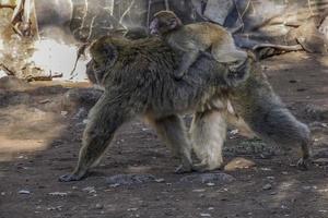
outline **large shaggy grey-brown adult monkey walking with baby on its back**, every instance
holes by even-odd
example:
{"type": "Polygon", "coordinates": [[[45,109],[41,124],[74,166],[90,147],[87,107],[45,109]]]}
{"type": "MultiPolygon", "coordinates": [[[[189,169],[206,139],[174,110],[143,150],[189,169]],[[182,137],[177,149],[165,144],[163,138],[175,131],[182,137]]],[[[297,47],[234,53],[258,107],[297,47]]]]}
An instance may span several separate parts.
{"type": "MultiPolygon", "coordinates": [[[[180,57],[156,37],[128,40],[105,36],[91,45],[90,52],[90,68],[97,71],[97,81],[105,92],[90,111],[78,165],[72,173],[60,177],[62,182],[84,178],[89,169],[98,164],[119,126],[134,118],[145,119],[152,124],[173,153],[177,154],[181,162],[177,172],[194,170],[191,143],[180,116],[200,111],[199,119],[192,123],[195,128],[191,134],[203,128],[198,124],[203,121],[208,121],[204,124],[208,126],[225,125],[224,119],[215,119],[218,122],[209,119],[208,114],[211,114],[212,109],[209,109],[209,113],[201,112],[204,111],[204,106],[218,99],[222,104],[222,110],[227,107],[227,100],[231,100],[236,113],[260,137],[263,135],[271,140],[273,135],[274,141],[289,142],[290,146],[300,145],[300,165],[304,165],[304,160],[308,158],[307,126],[281,104],[251,58],[247,58],[245,63],[249,78],[236,89],[229,86],[223,76],[229,69],[202,55],[183,80],[174,80],[172,73],[180,57]],[[274,118],[278,118],[278,123],[274,118]],[[277,130],[281,126],[284,126],[284,132],[277,130]]],[[[216,134],[224,137],[223,132],[211,130],[211,135],[208,136],[200,131],[200,136],[215,140],[213,136],[216,134]]],[[[208,147],[213,146],[216,146],[215,150],[221,150],[222,141],[219,145],[208,147]]],[[[211,155],[209,152],[207,154],[211,155]]],[[[220,154],[215,157],[219,156],[220,154]]],[[[220,161],[216,164],[222,165],[220,161]]]]}

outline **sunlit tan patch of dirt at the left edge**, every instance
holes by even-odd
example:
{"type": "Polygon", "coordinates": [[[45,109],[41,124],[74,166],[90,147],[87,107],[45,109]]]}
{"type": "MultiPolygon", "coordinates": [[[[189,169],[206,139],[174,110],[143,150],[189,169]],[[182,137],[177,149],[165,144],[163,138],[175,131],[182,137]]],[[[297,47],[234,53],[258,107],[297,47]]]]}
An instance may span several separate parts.
{"type": "Polygon", "coordinates": [[[46,149],[63,129],[55,112],[25,105],[2,108],[0,122],[0,161],[46,149]]]}

